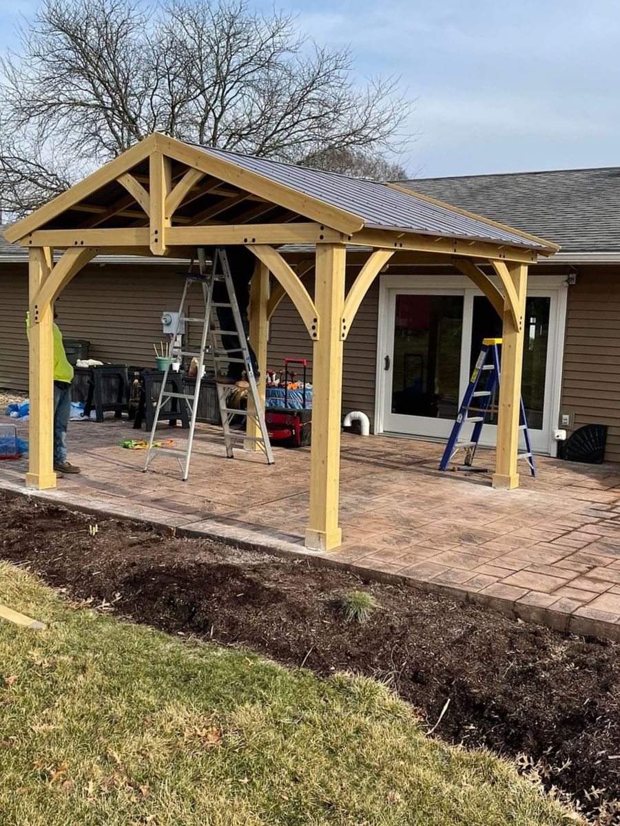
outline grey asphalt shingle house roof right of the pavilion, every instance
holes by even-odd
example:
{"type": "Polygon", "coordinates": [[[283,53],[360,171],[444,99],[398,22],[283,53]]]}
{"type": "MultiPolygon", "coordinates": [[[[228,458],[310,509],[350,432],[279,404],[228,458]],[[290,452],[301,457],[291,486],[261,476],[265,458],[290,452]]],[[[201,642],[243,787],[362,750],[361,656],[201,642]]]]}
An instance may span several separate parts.
{"type": "Polygon", "coordinates": [[[401,185],[561,244],[562,252],[620,250],[620,167],[417,178],[401,185]]]}

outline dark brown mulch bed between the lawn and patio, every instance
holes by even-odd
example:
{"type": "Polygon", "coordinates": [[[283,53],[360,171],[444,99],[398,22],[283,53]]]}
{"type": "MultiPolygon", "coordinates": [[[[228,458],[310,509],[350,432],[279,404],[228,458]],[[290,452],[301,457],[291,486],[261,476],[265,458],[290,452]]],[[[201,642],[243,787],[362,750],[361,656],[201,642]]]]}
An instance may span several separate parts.
{"type": "Polygon", "coordinates": [[[244,643],[318,675],[389,679],[436,734],[548,767],[576,795],[620,797],[620,646],[558,634],[407,587],[0,494],[0,556],[75,598],[173,633],[244,643]],[[91,537],[88,525],[98,522],[91,537]],[[349,623],[334,601],[363,588],[379,608],[349,623]],[[564,768],[561,768],[566,764],[564,768]]]}

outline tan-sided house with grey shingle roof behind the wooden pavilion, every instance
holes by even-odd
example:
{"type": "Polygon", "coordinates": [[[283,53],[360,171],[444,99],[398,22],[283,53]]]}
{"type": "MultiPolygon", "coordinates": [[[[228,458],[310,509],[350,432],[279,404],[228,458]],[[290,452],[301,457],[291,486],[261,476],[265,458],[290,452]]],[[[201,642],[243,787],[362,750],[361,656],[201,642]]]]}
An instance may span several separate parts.
{"type": "MultiPolygon", "coordinates": [[[[429,178],[401,186],[536,232],[562,245],[530,267],[523,396],[534,446],[556,453],[554,430],[609,425],[606,458],[620,461],[620,169],[429,178]]],[[[355,249],[348,256],[355,274],[355,249]]],[[[312,294],[313,251],[287,259],[312,294]]],[[[64,335],[88,339],[91,355],[153,365],[160,316],[179,302],[186,263],[99,256],[64,290],[64,335]]],[[[358,265],[359,266],[359,265],[358,265]]],[[[27,249],[0,243],[0,387],[26,389],[27,249]]],[[[374,432],[445,439],[471,363],[499,319],[450,266],[389,263],[361,303],[345,342],[343,411],[370,416],[374,432]]],[[[269,366],[312,359],[312,342],[288,297],[269,326],[269,366]]],[[[494,428],[486,439],[494,439],[494,428]]]]}

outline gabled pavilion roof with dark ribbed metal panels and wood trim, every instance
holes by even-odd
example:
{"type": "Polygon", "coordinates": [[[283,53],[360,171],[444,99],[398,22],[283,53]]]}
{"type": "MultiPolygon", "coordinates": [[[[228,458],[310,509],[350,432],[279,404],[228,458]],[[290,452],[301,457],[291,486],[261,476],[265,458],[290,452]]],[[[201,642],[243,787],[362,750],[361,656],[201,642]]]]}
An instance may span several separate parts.
{"type": "MultiPolygon", "coordinates": [[[[133,229],[149,225],[150,156],[171,159],[170,225],[287,225],[315,221],[344,235],[362,230],[487,244],[551,255],[556,244],[451,207],[393,183],[213,149],[155,133],[17,221],[7,240],[36,230],[133,229]],[[177,185],[184,182],[184,186],[177,185]],[[176,192],[174,192],[176,190],[176,192]],[[177,193],[179,197],[177,197],[177,193]]],[[[301,240],[301,239],[300,239],[301,240]]],[[[358,239],[362,242],[362,238],[358,239]]],[[[69,244],[67,244],[69,245],[69,244]]],[[[402,244],[401,244],[402,245],[402,244]]],[[[456,249],[454,250],[456,251],[456,249]]],[[[460,250],[459,250],[460,251],[460,250]]]]}

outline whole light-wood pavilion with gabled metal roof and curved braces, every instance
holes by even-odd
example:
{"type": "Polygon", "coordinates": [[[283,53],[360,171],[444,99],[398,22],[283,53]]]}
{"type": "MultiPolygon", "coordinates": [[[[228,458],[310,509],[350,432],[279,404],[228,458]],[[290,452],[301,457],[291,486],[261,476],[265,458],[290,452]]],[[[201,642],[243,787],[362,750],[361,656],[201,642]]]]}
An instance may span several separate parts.
{"type": "MultiPolygon", "coordinates": [[[[53,303],[98,254],[193,257],[197,245],[245,244],[257,266],[250,340],[265,374],[267,325],[284,294],[313,342],[313,430],[306,545],[341,544],[338,487],[343,342],[360,302],[393,259],[465,273],[503,319],[494,487],[518,485],[517,436],[527,266],[556,244],[389,183],[346,178],[154,134],[12,225],[30,248],[30,467],[26,485],[55,487],[53,303]],[[312,248],[315,290],[282,254],[312,248]],[[365,261],[345,294],[347,248],[365,261]],[[55,250],[61,250],[55,260],[55,250]],[[489,278],[484,267],[496,278],[489,278]],[[269,273],[277,284],[270,290],[269,273]],[[499,285],[499,286],[496,286],[499,285]]],[[[308,267],[306,267],[308,269],[308,267]]]]}

